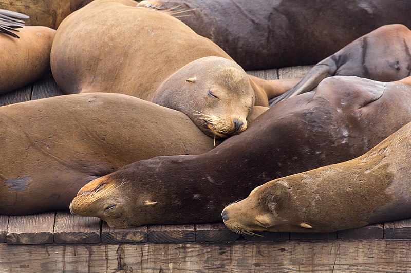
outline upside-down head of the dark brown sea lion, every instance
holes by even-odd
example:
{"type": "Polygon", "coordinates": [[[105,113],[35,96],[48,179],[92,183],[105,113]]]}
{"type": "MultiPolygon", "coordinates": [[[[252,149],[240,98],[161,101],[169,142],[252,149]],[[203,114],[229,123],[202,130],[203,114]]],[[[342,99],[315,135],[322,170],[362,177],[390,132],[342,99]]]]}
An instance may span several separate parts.
{"type": "MultiPolygon", "coordinates": [[[[148,180],[144,175],[141,174],[141,180],[148,180]]],[[[150,183],[139,183],[136,190],[133,183],[114,172],[83,186],[71,201],[70,212],[99,217],[115,228],[155,224],[161,222],[164,217],[162,211],[167,205],[165,200],[157,199],[158,196],[166,196],[161,191],[161,188],[153,191],[150,183]]]]}

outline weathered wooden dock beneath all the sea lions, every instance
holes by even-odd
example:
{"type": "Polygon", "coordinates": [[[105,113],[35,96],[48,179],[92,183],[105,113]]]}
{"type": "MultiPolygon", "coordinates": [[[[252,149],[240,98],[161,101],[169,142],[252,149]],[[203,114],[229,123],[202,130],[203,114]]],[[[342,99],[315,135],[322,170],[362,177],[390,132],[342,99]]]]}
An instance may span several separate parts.
{"type": "MultiPolygon", "coordinates": [[[[301,77],[309,68],[250,74],[301,77]]],[[[62,94],[48,78],[0,95],[0,106],[62,94]]],[[[239,235],[222,223],[114,229],[67,212],[0,216],[0,273],[411,272],[411,219],[334,233],[261,235],[239,235]]]]}

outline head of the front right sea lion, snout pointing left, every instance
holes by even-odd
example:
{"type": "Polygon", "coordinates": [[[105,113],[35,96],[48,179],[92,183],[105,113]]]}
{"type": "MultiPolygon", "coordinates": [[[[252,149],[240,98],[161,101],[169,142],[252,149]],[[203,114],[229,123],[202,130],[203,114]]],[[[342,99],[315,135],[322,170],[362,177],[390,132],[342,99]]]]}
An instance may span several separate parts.
{"type": "Polygon", "coordinates": [[[301,217],[287,182],[282,179],[256,187],[246,199],[223,209],[221,216],[227,228],[240,234],[312,231],[312,226],[301,217]]]}

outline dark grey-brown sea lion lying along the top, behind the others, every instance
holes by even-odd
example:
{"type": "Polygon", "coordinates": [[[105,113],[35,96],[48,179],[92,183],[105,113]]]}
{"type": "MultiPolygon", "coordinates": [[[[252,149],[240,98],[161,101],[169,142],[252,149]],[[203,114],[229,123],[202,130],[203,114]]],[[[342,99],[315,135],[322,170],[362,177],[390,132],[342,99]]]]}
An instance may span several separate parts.
{"type": "Polygon", "coordinates": [[[387,24],[411,27],[408,0],[144,0],[210,38],[246,70],[313,65],[387,24]]]}

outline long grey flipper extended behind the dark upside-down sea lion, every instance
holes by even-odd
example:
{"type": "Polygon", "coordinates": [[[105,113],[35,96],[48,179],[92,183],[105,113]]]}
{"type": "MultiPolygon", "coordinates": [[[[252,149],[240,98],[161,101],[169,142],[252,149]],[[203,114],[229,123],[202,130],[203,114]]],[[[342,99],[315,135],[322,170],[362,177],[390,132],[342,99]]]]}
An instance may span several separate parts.
{"type": "Polygon", "coordinates": [[[337,71],[337,64],[331,57],[319,62],[296,86],[269,101],[270,107],[278,102],[313,90],[323,79],[337,71]]]}

